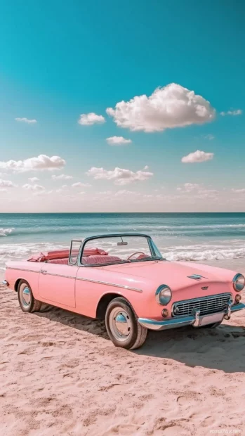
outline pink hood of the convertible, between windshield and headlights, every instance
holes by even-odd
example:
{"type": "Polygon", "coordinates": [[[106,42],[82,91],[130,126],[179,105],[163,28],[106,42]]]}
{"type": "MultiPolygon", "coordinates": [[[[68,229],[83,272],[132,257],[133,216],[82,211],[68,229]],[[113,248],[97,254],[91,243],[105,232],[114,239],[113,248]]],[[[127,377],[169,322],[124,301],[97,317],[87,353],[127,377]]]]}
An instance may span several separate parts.
{"type": "Polygon", "coordinates": [[[232,283],[232,278],[236,274],[236,271],[194,262],[168,262],[165,260],[108,265],[103,269],[114,273],[117,272],[124,277],[134,276],[135,278],[138,277],[139,281],[145,279],[151,282],[154,281],[159,285],[166,284],[173,288],[192,286],[198,282],[232,283]]]}

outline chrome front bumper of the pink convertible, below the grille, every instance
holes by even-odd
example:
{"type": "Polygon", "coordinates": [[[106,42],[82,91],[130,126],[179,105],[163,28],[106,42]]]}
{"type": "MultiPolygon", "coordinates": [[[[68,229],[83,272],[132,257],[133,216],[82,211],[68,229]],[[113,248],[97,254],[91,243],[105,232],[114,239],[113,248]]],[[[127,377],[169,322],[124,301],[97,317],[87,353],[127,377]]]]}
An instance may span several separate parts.
{"type": "Polygon", "coordinates": [[[234,306],[232,306],[232,302],[230,302],[227,304],[227,309],[225,312],[217,312],[215,314],[200,316],[200,312],[197,310],[191,316],[176,316],[171,319],[163,319],[162,321],[157,319],[139,318],[138,322],[141,324],[141,326],[149,328],[150,330],[167,330],[168,328],[184,326],[201,327],[211,323],[223,321],[224,317],[225,319],[230,319],[232,312],[237,312],[241,309],[245,309],[244,303],[234,304],[234,306]]]}

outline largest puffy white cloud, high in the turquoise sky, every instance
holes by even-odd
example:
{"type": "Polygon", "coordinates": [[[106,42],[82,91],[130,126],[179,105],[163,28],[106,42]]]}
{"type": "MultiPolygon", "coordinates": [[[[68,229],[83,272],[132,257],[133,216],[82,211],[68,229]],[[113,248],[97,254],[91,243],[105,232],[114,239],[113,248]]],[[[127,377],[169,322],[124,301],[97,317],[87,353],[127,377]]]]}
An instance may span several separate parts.
{"type": "Polygon", "coordinates": [[[209,101],[175,83],[157,88],[150,97],[135,96],[107,108],[119,127],[144,132],[161,132],[173,127],[204,124],[216,115],[209,101]]]}

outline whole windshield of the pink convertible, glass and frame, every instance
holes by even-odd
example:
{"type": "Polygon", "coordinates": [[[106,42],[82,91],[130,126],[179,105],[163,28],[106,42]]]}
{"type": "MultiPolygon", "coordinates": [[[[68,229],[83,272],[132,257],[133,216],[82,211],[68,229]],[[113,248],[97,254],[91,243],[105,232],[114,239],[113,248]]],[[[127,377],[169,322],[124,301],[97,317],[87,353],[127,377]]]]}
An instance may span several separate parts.
{"type": "Polygon", "coordinates": [[[156,245],[147,236],[102,236],[84,245],[81,264],[98,266],[163,259],[156,245]]]}

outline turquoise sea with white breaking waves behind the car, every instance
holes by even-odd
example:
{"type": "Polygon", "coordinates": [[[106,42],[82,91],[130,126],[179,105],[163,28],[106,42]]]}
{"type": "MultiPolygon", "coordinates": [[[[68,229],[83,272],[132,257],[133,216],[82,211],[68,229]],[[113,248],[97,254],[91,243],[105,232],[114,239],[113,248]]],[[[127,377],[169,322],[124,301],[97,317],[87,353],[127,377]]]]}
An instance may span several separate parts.
{"type": "Polygon", "coordinates": [[[245,213],[0,214],[0,269],[71,238],[120,232],[149,234],[168,260],[245,271],[245,213]]]}

